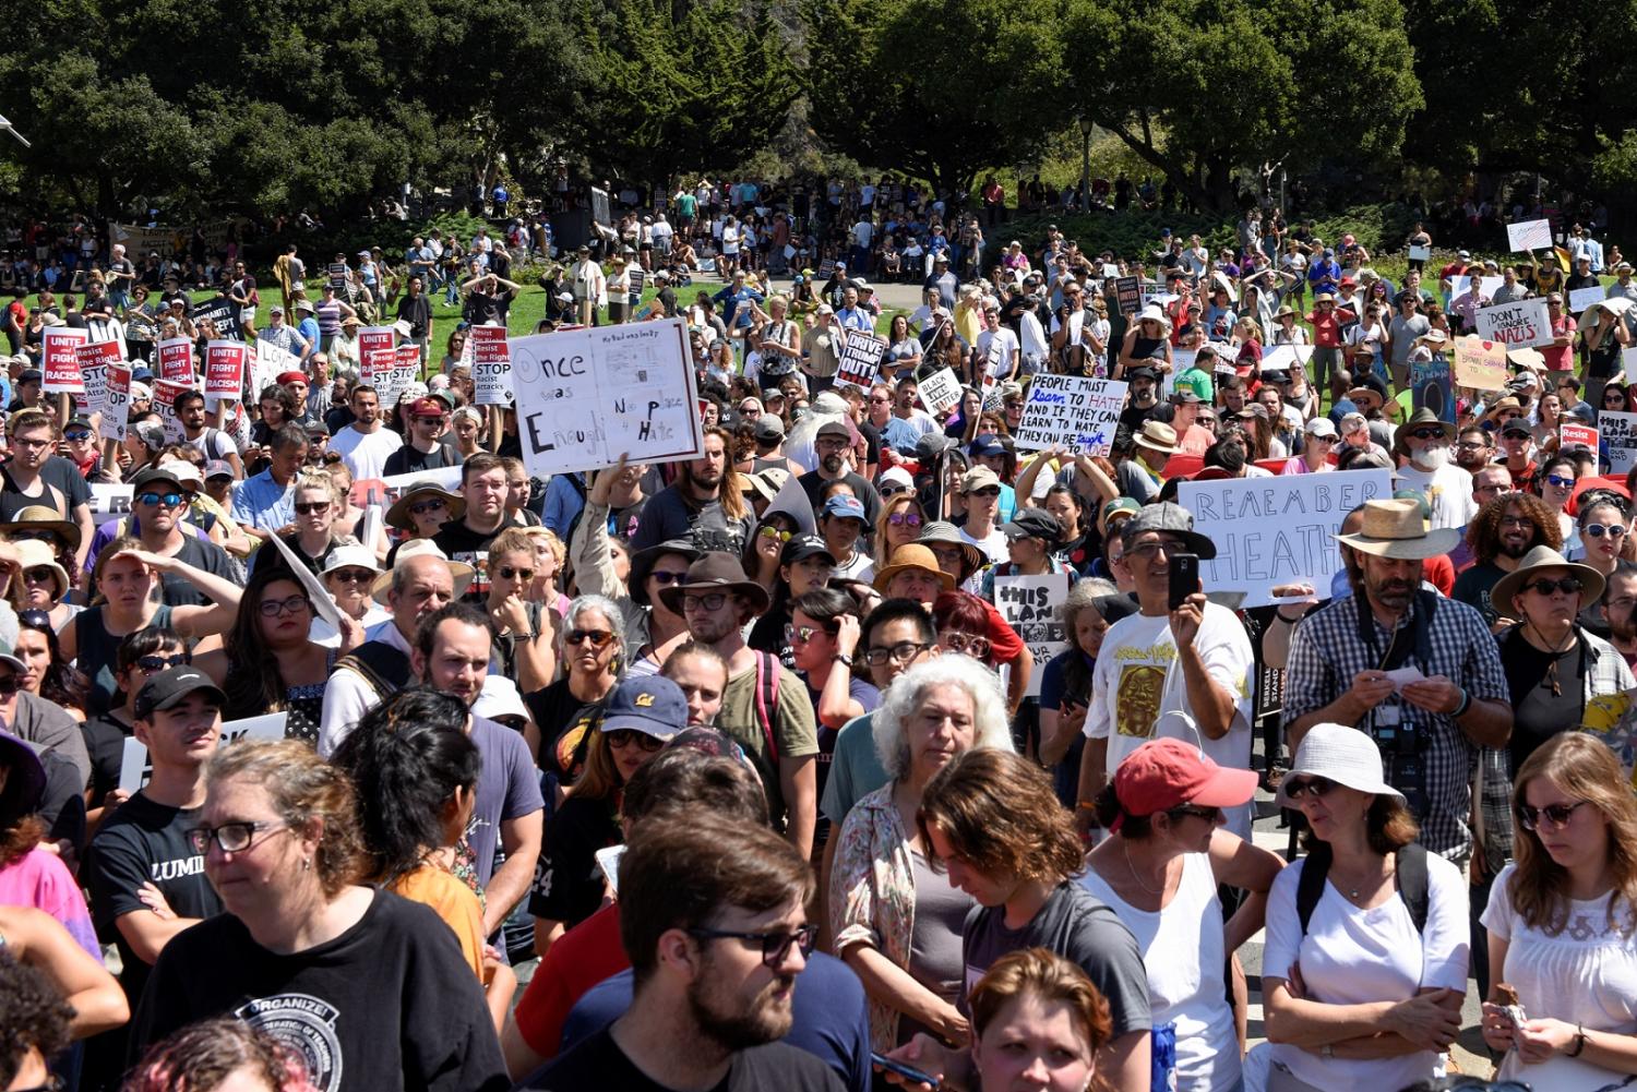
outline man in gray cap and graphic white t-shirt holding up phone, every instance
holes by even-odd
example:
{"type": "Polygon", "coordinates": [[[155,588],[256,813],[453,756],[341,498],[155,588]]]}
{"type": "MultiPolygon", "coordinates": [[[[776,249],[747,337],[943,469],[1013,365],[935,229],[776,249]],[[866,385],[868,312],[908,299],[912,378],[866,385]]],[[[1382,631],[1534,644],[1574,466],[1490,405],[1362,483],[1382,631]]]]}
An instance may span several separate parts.
{"type": "MultiPolygon", "coordinates": [[[[1076,794],[1082,832],[1095,825],[1098,791],[1146,740],[1180,737],[1220,766],[1251,768],[1251,639],[1198,584],[1198,562],[1215,558],[1216,544],[1169,501],[1125,521],[1120,540],[1139,611],[1108,629],[1092,676],[1076,794]]],[[[1249,802],[1224,814],[1231,833],[1251,837],[1249,802]]]]}

